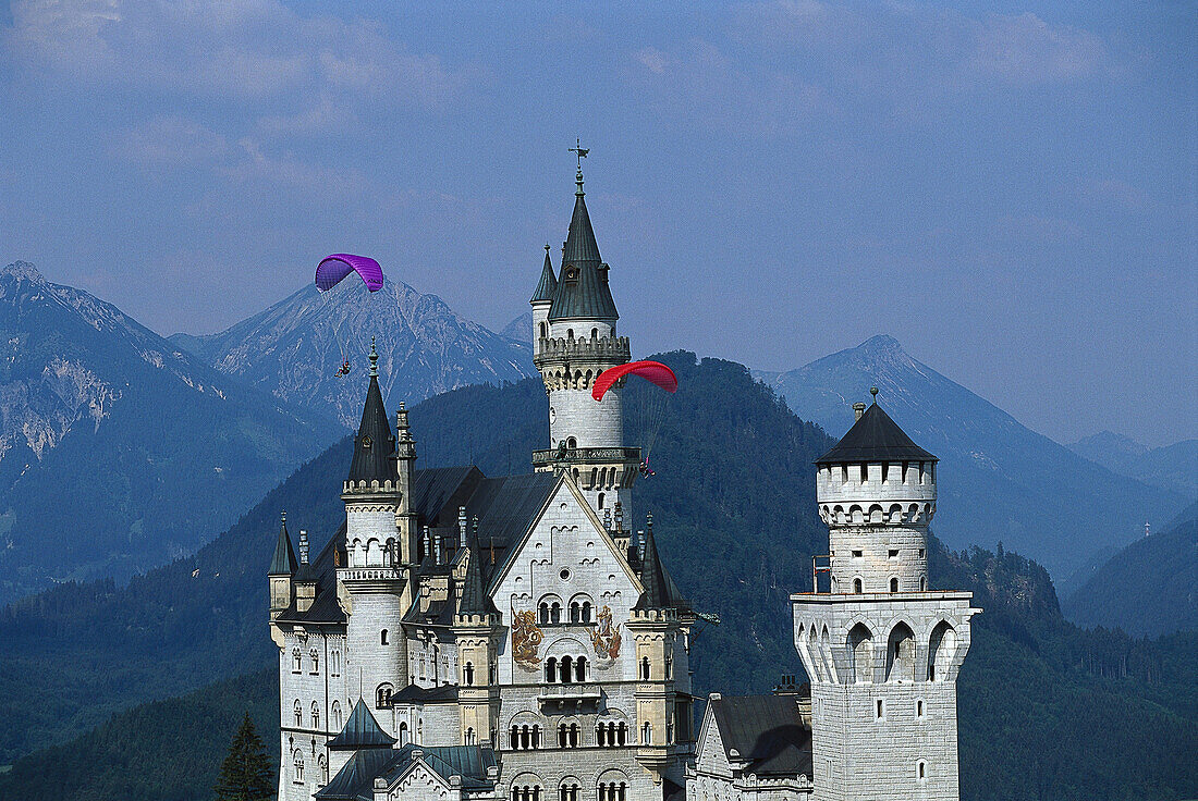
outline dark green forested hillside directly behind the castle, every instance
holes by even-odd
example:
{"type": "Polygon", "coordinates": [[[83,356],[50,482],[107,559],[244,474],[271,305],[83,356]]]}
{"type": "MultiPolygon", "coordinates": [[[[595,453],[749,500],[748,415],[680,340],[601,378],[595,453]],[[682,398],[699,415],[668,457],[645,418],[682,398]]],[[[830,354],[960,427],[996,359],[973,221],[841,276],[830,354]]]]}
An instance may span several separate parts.
{"type": "MultiPolygon", "coordinates": [[[[654,448],[657,475],[637,485],[637,514],[654,512],[664,559],[695,606],[724,619],[695,637],[697,692],[764,691],[782,673],[801,673],[787,596],[809,585],[810,556],[827,547],[811,461],[831,441],[740,365],[696,362],[689,353],[664,358],[678,371],[682,389],[654,448]]],[[[630,408],[645,392],[648,387],[630,384],[630,408]]],[[[412,413],[420,462],[472,455],[489,473],[504,472],[509,460],[519,471],[528,451],[545,442],[545,405],[537,381],[430,399],[412,413]]],[[[2,733],[5,753],[62,742],[139,699],[267,666],[273,647],[266,635],[265,565],[278,511],[285,508],[289,524],[308,528],[322,542],[340,515],[346,457],[341,443],[195,558],[128,589],[60,588],[0,614],[0,641],[13,638],[22,654],[0,656],[0,711],[12,722],[2,733]],[[193,578],[194,570],[200,572],[193,578]],[[86,711],[72,716],[73,709],[86,711]]],[[[954,553],[936,541],[930,552],[933,587],[972,589],[985,609],[974,619],[960,686],[964,799],[1198,795],[1190,757],[1198,751],[1194,635],[1146,642],[1083,631],[1060,617],[1048,576],[1034,562],[1002,551],[954,553]]],[[[265,691],[272,692],[270,682],[265,691]]],[[[235,718],[244,704],[231,706],[235,718]]],[[[164,739],[174,741],[169,727],[138,727],[138,720],[114,721],[116,728],[103,736],[126,747],[97,751],[96,758],[133,759],[161,748],[164,739]]],[[[214,771],[223,748],[192,757],[214,771]]],[[[26,797],[34,776],[61,777],[67,789],[67,767],[54,765],[47,752],[18,761],[0,777],[0,796],[26,797]]],[[[202,797],[90,787],[87,797],[97,800],[202,797]]]]}

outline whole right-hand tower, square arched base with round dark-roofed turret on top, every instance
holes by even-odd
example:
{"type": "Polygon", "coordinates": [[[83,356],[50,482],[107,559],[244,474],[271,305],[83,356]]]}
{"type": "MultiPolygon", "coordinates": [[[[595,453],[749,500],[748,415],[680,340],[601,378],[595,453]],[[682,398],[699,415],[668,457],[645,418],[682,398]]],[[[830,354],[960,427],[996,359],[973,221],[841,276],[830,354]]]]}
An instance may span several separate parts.
{"type": "Polygon", "coordinates": [[[816,462],[828,591],[791,596],[811,680],[813,797],[956,801],[956,681],[980,609],[970,593],[927,587],[936,456],[877,401],[854,409],[816,462]]]}

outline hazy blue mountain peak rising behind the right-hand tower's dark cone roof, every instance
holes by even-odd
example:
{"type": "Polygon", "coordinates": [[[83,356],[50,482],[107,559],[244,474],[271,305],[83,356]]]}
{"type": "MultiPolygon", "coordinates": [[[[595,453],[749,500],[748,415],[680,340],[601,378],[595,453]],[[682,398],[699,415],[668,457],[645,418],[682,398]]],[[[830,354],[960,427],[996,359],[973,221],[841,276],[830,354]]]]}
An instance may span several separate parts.
{"type": "MultiPolygon", "coordinates": [[[[878,402],[940,459],[933,528],[952,547],[1006,547],[1057,578],[1091,554],[1114,552],[1184,505],[1175,492],[1115,475],[908,356],[891,336],[782,374],[756,374],[799,415],[834,436],[853,423],[854,401],[878,402]]],[[[1063,590],[1064,591],[1064,590],[1063,590]]]]}

